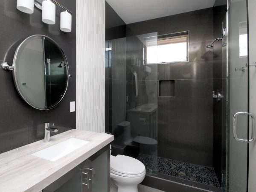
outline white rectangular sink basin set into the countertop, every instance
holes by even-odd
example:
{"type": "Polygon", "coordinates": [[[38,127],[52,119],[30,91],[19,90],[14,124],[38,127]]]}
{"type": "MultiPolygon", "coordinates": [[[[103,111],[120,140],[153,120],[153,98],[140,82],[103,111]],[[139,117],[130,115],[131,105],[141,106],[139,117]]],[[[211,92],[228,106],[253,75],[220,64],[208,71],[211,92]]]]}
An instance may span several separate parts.
{"type": "Polygon", "coordinates": [[[32,155],[46,160],[55,161],[86,145],[87,143],[90,143],[90,141],[70,138],[62,141],[61,143],[44,148],[41,151],[37,151],[32,155]]]}

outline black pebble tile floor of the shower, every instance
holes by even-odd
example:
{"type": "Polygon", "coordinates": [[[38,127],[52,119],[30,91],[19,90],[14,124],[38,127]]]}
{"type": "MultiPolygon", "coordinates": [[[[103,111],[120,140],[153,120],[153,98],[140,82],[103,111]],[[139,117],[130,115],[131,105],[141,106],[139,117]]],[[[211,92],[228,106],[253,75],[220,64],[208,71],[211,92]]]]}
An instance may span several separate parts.
{"type": "Polygon", "coordinates": [[[197,183],[220,187],[212,167],[185,163],[163,157],[154,157],[147,154],[139,154],[137,159],[145,165],[147,172],[160,173],[191,180],[197,183]]]}

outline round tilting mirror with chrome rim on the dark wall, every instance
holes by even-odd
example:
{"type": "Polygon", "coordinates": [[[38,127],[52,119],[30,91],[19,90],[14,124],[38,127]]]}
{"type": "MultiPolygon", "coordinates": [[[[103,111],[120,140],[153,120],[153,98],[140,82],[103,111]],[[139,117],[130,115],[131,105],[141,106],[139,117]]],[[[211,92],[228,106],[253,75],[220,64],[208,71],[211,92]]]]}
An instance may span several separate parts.
{"type": "Polygon", "coordinates": [[[54,108],[69,82],[67,59],[51,38],[33,35],[17,48],[13,61],[15,86],[20,96],[40,110],[54,108]]]}

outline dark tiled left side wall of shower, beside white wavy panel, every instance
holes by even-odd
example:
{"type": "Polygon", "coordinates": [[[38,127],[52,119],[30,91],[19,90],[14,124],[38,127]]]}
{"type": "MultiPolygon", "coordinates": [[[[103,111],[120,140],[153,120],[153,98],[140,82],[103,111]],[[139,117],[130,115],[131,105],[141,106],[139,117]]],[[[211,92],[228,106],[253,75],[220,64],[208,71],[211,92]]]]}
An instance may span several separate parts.
{"type": "Polygon", "coordinates": [[[107,2],[105,4],[105,46],[113,47],[105,53],[105,131],[113,133],[125,120],[126,24],[107,2]]]}

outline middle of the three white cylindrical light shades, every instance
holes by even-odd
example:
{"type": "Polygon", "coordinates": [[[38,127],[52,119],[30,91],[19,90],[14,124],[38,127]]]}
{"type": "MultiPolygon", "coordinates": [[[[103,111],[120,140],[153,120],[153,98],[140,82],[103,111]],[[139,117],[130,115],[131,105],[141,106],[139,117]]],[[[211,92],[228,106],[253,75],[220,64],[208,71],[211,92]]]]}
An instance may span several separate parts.
{"type": "Polygon", "coordinates": [[[51,0],[45,0],[42,3],[42,21],[44,23],[54,25],[55,24],[55,4],[51,0]]]}

